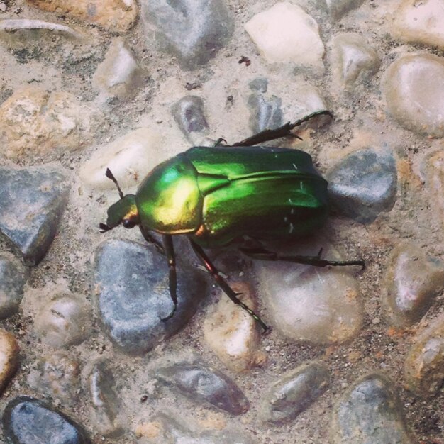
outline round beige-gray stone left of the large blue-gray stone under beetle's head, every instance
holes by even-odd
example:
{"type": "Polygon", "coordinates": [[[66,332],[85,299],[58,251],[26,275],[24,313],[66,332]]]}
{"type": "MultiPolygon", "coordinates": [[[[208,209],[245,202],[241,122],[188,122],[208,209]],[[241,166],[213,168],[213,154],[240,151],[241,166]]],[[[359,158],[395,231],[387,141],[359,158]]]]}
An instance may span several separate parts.
{"type": "Polygon", "coordinates": [[[91,306],[80,295],[57,297],[38,313],[35,330],[54,348],[82,343],[91,331],[91,306]]]}

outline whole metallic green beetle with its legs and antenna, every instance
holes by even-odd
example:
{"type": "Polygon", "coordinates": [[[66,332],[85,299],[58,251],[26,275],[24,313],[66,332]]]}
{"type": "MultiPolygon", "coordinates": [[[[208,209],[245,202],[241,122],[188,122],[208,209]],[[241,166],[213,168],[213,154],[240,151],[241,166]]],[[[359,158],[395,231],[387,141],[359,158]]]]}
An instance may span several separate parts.
{"type": "MultiPolygon", "coordinates": [[[[261,240],[300,237],[323,226],[328,214],[327,182],[306,152],[289,148],[253,146],[285,135],[296,126],[328,111],[318,111],[276,130],[266,130],[231,146],[194,147],[162,162],[143,180],[136,194],[123,195],[108,209],[102,231],[120,223],[140,226],[145,240],[155,243],[170,266],[170,295],[177,307],[177,279],[172,235],[187,235],[194,252],[228,297],[267,326],[236,294],[212,264],[203,248],[221,248],[240,238],[257,241],[257,248],[241,248],[261,260],[286,260],[326,265],[361,265],[362,260],[330,261],[314,257],[283,256],[265,250],[261,240]],[[160,243],[151,232],[162,235],[160,243]]],[[[298,136],[296,136],[298,137],[298,136]]]]}

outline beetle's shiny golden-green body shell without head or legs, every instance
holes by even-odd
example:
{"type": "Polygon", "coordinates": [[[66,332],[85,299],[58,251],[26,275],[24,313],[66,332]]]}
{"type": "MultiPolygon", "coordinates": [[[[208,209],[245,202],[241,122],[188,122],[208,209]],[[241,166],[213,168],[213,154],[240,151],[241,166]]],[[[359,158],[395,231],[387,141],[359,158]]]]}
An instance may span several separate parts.
{"type": "Polygon", "coordinates": [[[140,223],[206,248],[248,235],[294,238],[323,225],[327,182],[299,150],[194,147],[158,165],[135,195],[140,223]]]}

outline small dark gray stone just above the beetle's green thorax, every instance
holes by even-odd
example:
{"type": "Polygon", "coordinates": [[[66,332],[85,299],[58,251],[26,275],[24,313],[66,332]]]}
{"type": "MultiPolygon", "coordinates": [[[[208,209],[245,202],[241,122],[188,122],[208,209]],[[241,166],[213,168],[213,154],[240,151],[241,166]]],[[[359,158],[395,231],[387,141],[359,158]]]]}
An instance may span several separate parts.
{"type": "Polygon", "coordinates": [[[204,116],[204,101],[198,96],[184,96],[172,106],[172,115],[180,130],[194,143],[198,133],[203,137],[209,133],[209,126],[204,116]]]}

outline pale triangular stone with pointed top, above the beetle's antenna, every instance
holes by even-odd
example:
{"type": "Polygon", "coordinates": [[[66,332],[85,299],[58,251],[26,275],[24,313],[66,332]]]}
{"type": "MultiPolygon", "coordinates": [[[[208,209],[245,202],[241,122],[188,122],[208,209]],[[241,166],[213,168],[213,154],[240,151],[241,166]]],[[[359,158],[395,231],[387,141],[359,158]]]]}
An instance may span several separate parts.
{"type": "Polygon", "coordinates": [[[93,86],[106,96],[131,99],[143,85],[143,70],[123,38],[113,38],[105,59],[92,78],[93,86]]]}

